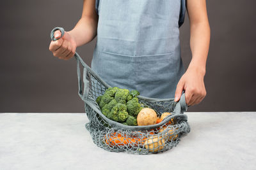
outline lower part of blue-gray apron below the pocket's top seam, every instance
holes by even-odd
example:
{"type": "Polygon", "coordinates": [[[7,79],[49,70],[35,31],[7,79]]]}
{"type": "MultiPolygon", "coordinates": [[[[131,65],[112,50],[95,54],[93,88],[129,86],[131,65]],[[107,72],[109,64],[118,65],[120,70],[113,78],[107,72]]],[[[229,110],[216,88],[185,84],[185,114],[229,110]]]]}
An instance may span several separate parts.
{"type": "Polygon", "coordinates": [[[145,97],[172,98],[179,63],[173,52],[141,56],[99,52],[93,56],[92,68],[112,87],[136,89],[145,97]]]}

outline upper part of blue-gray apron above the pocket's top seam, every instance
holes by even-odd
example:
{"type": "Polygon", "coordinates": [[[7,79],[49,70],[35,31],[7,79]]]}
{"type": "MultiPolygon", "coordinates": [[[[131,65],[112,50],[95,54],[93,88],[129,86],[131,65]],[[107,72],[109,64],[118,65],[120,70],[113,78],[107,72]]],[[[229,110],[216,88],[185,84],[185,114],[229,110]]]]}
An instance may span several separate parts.
{"type": "Polygon", "coordinates": [[[100,51],[140,56],[178,50],[180,0],[101,0],[98,13],[100,51]]]}

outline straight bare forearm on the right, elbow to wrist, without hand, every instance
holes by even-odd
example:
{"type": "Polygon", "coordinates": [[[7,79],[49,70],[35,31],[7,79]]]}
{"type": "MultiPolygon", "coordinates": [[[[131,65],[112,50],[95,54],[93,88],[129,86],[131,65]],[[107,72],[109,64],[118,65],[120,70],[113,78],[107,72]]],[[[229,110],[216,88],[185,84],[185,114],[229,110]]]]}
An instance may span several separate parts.
{"type": "Polygon", "coordinates": [[[205,66],[210,44],[209,22],[198,22],[190,25],[190,48],[192,59],[188,69],[196,69],[205,74],[205,66]]]}

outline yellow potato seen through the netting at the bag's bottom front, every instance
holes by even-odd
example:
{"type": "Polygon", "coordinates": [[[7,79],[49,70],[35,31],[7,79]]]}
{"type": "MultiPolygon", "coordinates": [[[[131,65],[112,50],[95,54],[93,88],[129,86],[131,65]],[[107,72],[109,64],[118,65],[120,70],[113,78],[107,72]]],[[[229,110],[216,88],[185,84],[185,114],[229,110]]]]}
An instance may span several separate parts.
{"type": "Polygon", "coordinates": [[[153,136],[152,138],[145,141],[144,146],[149,152],[156,153],[164,148],[164,139],[158,136],[153,136]]]}

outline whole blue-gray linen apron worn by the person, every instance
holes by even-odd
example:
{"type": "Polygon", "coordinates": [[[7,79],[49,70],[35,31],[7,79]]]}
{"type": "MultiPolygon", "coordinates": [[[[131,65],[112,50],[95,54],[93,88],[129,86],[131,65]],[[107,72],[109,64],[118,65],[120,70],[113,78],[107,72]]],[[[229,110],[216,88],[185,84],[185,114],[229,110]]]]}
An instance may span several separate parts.
{"type": "Polygon", "coordinates": [[[173,98],[184,66],[179,27],[185,0],[100,0],[92,69],[111,87],[173,98]]]}

